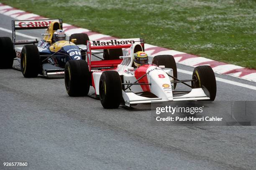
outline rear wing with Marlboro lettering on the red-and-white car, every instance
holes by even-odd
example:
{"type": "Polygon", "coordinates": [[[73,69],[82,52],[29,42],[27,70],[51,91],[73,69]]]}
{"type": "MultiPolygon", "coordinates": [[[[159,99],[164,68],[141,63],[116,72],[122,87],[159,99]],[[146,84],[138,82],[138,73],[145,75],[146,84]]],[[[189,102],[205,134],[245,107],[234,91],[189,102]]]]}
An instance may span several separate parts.
{"type": "MultiPolygon", "coordinates": [[[[94,62],[92,62],[92,50],[129,48],[129,47],[131,47],[131,45],[133,45],[136,42],[140,43],[144,50],[144,40],[142,38],[87,41],[87,62],[89,65],[89,70],[91,70],[91,68],[94,65],[94,62]]],[[[98,62],[97,62],[97,64],[99,64],[98,62]]],[[[112,62],[114,62],[114,61],[112,61],[112,62]]]]}

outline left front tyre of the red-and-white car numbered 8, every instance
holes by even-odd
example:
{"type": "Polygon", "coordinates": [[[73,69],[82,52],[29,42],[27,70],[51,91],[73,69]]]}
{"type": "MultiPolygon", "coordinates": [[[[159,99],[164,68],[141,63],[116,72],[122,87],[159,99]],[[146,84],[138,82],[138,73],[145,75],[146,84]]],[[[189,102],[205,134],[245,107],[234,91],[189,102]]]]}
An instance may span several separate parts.
{"type": "Polygon", "coordinates": [[[104,71],[100,76],[100,102],[105,109],[118,108],[122,100],[121,77],[116,71],[104,71]]]}

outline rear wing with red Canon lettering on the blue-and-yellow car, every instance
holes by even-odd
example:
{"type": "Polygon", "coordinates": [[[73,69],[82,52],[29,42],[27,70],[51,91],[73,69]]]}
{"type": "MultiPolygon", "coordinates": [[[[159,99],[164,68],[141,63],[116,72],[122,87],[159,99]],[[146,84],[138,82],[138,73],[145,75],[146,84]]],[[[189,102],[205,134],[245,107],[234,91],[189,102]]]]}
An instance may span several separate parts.
{"type": "Polygon", "coordinates": [[[37,43],[37,39],[33,40],[15,40],[15,30],[35,30],[35,29],[46,29],[51,22],[59,22],[62,29],[62,19],[42,19],[42,20],[12,20],[13,30],[13,48],[15,45],[21,44],[33,44],[37,43]]]}

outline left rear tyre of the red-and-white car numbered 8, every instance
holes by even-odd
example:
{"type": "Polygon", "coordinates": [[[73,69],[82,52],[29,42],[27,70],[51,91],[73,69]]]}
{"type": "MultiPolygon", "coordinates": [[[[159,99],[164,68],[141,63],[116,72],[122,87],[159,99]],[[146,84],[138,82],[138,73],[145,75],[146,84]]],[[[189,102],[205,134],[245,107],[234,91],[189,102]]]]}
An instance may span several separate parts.
{"type": "Polygon", "coordinates": [[[65,65],[65,86],[69,96],[86,96],[90,90],[90,72],[85,60],[70,60],[65,65]]]}

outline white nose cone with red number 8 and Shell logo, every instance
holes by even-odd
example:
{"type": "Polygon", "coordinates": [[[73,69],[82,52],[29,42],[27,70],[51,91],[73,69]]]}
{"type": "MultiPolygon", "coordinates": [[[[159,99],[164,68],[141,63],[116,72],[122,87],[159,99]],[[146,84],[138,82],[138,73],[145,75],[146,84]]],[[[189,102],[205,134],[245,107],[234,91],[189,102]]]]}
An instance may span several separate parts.
{"type": "Polygon", "coordinates": [[[172,100],[172,86],[169,76],[157,66],[148,67],[148,82],[151,83],[150,91],[163,100],[172,100]]]}

